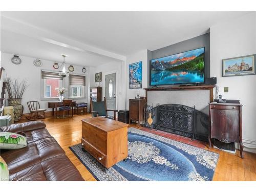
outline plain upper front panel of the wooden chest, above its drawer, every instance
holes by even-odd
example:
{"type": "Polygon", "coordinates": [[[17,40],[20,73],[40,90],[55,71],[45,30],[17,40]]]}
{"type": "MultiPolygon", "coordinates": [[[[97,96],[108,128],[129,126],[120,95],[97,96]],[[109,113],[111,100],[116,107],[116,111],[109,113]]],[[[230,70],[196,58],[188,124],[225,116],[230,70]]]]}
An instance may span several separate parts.
{"type": "Polygon", "coordinates": [[[106,137],[106,132],[82,122],[82,139],[98,148],[104,154],[106,154],[106,137]]]}

